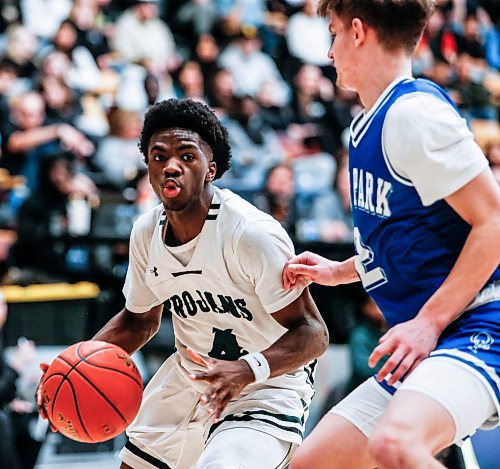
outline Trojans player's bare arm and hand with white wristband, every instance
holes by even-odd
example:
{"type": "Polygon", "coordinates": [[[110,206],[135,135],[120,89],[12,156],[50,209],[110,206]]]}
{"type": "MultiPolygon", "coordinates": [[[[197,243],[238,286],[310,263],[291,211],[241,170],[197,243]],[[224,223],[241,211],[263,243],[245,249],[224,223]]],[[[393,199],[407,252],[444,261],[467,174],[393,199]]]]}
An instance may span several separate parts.
{"type": "Polygon", "coordinates": [[[255,354],[257,362],[252,368],[245,359],[224,361],[202,358],[188,349],[191,360],[206,368],[204,372],[193,373],[191,379],[209,384],[201,401],[207,404],[208,413],[213,414],[215,419],[248,384],[258,378],[274,378],[294,371],[319,357],[328,347],[328,330],[308,289],[290,305],[273,313],[273,318],[288,331],[262,351],[262,356],[255,354]],[[259,366],[267,370],[266,375],[255,374],[253,370],[259,372],[259,366]]]}

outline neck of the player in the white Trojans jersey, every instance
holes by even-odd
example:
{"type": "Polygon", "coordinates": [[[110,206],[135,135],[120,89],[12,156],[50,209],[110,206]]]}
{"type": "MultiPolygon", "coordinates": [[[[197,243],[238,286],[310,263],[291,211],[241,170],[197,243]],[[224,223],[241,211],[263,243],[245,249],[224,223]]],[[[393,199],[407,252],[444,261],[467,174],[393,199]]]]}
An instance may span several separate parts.
{"type": "Polygon", "coordinates": [[[208,186],[200,198],[184,210],[166,211],[169,226],[164,239],[167,245],[182,246],[201,233],[213,194],[213,188],[208,186]]]}

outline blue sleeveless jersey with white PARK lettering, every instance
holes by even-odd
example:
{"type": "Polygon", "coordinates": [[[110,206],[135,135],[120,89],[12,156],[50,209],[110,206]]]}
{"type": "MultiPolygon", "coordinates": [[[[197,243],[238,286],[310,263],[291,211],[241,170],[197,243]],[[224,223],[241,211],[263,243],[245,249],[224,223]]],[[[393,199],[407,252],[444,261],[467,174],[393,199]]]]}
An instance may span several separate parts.
{"type": "MultiPolygon", "coordinates": [[[[356,269],[391,326],[416,316],[448,276],[470,232],[444,200],[424,206],[411,181],[384,155],[386,114],[399,97],[415,92],[454,107],[434,83],[402,79],[369,118],[355,119],[349,145],[356,269]]],[[[490,281],[496,279],[500,268],[490,281]]]]}

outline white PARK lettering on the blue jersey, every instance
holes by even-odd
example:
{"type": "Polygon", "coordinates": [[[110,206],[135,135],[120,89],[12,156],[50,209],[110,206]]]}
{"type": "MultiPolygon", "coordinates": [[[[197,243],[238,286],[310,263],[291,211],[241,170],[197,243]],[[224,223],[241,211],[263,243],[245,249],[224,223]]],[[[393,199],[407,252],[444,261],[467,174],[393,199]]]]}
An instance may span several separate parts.
{"type": "Polygon", "coordinates": [[[391,216],[392,184],[363,169],[352,168],[352,207],[382,218],[391,216]]]}

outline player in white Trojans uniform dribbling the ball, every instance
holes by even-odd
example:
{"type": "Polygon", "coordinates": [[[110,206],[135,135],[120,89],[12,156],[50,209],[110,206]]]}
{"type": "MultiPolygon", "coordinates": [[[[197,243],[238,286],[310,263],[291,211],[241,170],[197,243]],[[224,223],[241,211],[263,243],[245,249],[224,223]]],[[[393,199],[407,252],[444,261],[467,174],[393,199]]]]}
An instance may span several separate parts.
{"type": "Polygon", "coordinates": [[[125,308],[94,337],[132,353],[171,314],[176,352],[144,391],[122,468],[278,468],[301,443],[328,333],[307,288],[285,290],[281,225],[212,181],[227,132],[204,104],[147,112],[140,148],[161,204],[134,224],[125,308]]]}

